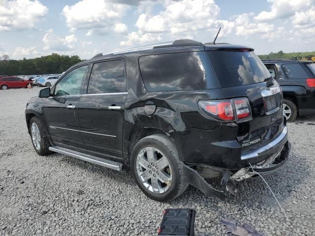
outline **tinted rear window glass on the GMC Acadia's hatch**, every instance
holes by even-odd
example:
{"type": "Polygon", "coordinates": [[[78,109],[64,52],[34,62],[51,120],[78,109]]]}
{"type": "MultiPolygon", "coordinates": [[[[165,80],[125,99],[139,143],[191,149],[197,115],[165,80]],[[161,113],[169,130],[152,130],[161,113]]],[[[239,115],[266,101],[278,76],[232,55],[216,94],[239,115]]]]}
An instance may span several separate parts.
{"type": "Polygon", "coordinates": [[[222,88],[256,84],[270,73],[254,52],[207,51],[222,88]]]}

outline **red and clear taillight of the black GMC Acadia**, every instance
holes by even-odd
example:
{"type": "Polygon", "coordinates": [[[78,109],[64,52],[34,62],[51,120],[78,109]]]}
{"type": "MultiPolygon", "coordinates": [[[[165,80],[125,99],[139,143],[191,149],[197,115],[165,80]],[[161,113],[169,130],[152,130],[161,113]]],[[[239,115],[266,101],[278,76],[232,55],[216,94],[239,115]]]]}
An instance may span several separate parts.
{"type": "Polygon", "coordinates": [[[246,121],[252,118],[249,100],[235,98],[217,101],[199,101],[199,108],[206,115],[222,121],[246,121]]]}

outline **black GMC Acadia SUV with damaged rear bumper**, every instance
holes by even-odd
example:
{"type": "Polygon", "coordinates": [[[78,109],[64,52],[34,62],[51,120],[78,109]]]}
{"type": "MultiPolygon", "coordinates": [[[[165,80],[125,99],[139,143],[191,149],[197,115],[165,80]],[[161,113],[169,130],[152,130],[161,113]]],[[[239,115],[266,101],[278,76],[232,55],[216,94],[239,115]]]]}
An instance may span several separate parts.
{"type": "Polygon", "coordinates": [[[96,55],[26,107],[36,152],[121,171],[150,198],[189,184],[223,198],[237,181],[288,158],[282,92],[253,49],[176,40],[96,55]],[[252,166],[252,167],[251,167],[252,166]],[[219,190],[205,178],[222,177],[219,190]]]}

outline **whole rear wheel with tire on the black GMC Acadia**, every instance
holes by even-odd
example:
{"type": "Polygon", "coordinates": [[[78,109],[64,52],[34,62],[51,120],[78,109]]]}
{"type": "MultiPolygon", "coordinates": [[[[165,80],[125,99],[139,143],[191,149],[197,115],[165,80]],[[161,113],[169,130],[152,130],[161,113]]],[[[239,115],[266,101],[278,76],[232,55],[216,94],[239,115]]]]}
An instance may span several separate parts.
{"type": "Polygon", "coordinates": [[[157,134],[141,139],[132,150],[130,165],[137,185],[153,200],[160,202],[173,200],[183,194],[189,186],[183,180],[183,166],[175,144],[165,135],[157,134]],[[149,158],[148,151],[154,153],[149,158]],[[154,165],[152,158],[155,160],[154,165]],[[165,165],[167,166],[163,168],[165,165]],[[153,185],[157,188],[154,189],[153,185]]]}

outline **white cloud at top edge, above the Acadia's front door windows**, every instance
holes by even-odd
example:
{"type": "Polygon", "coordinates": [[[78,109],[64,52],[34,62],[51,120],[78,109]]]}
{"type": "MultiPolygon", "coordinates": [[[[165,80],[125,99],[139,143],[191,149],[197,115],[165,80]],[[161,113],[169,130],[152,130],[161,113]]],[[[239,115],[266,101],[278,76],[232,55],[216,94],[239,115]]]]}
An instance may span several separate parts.
{"type": "Polygon", "coordinates": [[[129,8],[126,4],[106,0],[81,0],[74,5],[66,5],[63,15],[67,26],[73,32],[76,29],[88,29],[87,36],[106,34],[113,29],[129,8]]]}

